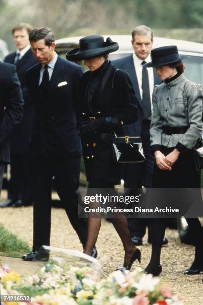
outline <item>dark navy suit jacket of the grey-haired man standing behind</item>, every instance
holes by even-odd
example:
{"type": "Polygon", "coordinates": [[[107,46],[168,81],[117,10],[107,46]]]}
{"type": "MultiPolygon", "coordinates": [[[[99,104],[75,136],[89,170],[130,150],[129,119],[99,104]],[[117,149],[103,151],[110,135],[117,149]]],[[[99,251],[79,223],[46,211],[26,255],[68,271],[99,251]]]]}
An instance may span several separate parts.
{"type": "MultiPolygon", "coordinates": [[[[137,75],[136,75],[136,69],[134,66],[134,61],[133,61],[133,55],[126,56],[124,58],[120,58],[117,60],[113,61],[113,64],[115,65],[116,68],[123,69],[127,71],[130,75],[130,78],[133,83],[133,87],[135,89],[135,96],[138,102],[138,119],[135,123],[131,124],[130,126],[127,126],[127,132],[129,136],[141,136],[141,130],[142,130],[142,121],[143,121],[143,106],[142,106],[142,100],[140,96],[140,91],[139,91],[139,84],[137,80],[137,75]]],[[[154,70],[154,85],[161,84],[161,81],[156,74],[156,70],[154,70]]]]}

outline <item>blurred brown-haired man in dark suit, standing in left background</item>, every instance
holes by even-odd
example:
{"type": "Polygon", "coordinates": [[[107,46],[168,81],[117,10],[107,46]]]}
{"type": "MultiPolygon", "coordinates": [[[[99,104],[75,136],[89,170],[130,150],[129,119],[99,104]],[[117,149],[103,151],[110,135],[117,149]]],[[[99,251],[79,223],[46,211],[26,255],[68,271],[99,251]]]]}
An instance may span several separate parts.
{"type": "Polygon", "coordinates": [[[31,205],[33,200],[29,142],[34,120],[34,105],[25,83],[25,72],[37,63],[29,42],[31,30],[31,25],[27,23],[20,23],[13,28],[12,34],[17,50],[7,55],[4,60],[16,65],[25,104],[23,120],[14,128],[10,137],[11,178],[8,199],[2,204],[3,206],[31,205]]]}

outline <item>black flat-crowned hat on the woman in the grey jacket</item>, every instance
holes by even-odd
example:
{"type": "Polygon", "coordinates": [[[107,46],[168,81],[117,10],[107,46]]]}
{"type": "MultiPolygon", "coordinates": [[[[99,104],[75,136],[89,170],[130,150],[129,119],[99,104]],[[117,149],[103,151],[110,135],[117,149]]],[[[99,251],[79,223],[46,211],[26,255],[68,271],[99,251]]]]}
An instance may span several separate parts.
{"type": "Polygon", "coordinates": [[[143,65],[143,67],[160,67],[172,64],[182,59],[188,58],[187,56],[180,56],[176,45],[168,45],[151,50],[151,62],[143,65]]]}

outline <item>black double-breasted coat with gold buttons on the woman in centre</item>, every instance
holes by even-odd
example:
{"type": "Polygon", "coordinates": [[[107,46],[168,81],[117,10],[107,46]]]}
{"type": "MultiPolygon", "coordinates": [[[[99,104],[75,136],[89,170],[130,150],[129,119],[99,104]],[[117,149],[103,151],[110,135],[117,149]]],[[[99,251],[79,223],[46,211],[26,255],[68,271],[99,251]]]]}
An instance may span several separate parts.
{"type": "MultiPolygon", "coordinates": [[[[127,72],[118,70],[114,76],[115,67],[112,66],[108,80],[101,90],[97,89],[90,103],[87,101],[87,87],[91,72],[86,72],[80,82],[80,96],[78,100],[78,116],[80,121],[87,121],[89,117],[99,118],[117,116],[123,125],[135,122],[137,119],[137,102],[132,82],[127,72]],[[113,86],[112,86],[113,82],[113,86]],[[113,87],[113,88],[112,88],[113,87]]],[[[105,77],[105,75],[104,75],[105,77]]],[[[104,143],[102,134],[112,134],[112,130],[100,129],[82,137],[83,156],[86,167],[87,181],[102,179],[114,184],[120,183],[121,166],[114,161],[111,143],[104,143]]]]}

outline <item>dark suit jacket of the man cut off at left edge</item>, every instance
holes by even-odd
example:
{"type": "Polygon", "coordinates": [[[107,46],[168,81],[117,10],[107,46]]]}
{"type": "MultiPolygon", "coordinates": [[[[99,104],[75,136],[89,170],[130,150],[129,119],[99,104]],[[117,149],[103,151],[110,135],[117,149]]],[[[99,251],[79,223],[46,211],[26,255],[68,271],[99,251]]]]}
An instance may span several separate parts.
{"type": "Polygon", "coordinates": [[[0,162],[10,162],[8,137],[22,120],[23,104],[16,67],[0,62],[0,162]]]}

